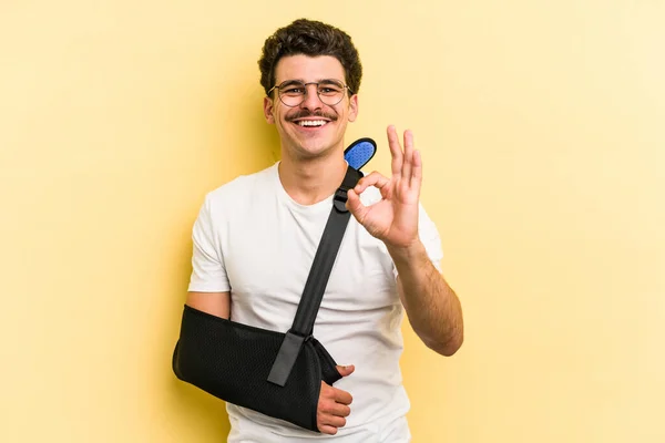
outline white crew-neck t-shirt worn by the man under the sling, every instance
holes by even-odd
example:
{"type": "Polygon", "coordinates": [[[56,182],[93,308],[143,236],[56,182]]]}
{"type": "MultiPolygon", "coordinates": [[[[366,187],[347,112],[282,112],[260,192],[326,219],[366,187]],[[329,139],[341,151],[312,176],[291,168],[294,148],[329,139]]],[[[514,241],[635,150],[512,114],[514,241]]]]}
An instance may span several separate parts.
{"type": "MultiPolygon", "coordinates": [[[[278,162],[206,195],[193,229],[191,291],[231,291],[231,319],[286,332],[321,238],[332,196],[314,205],[286,193],[278,162]]],[[[361,200],[381,198],[370,187],[361,200]]],[[[422,207],[419,233],[439,269],[439,234],[422,207]]],[[[399,359],[403,308],[397,271],[385,244],[351,216],[314,327],[314,337],[338,364],[356,371],[335,383],[352,396],[347,424],[335,436],[227,404],[228,442],[294,443],[332,439],[342,443],[408,442],[409,400],[399,359]]]]}

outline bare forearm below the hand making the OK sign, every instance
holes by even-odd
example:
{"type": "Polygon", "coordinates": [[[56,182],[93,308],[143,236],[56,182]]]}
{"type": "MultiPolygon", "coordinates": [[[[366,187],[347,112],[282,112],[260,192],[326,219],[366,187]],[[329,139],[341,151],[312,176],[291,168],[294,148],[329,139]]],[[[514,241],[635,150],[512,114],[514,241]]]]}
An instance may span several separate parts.
{"type": "Polygon", "coordinates": [[[443,356],[452,356],[463,341],[460,301],[430,261],[418,241],[388,251],[399,274],[397,287],[413,331],[423,343],[443,356]]]}

